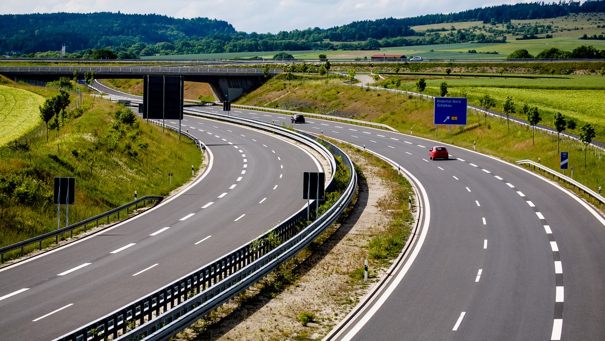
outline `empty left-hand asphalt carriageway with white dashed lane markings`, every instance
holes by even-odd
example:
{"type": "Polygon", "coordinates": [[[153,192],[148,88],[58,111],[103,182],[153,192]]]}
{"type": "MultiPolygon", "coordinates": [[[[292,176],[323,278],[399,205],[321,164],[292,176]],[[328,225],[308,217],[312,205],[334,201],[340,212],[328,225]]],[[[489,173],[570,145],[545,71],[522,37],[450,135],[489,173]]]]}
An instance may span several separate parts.
{"type": "MultiPolygon", "coordinates": [[[[177,125],[178,122],[166,122],[177,125]]],[[[206,265],[306,205],[308,151],[272,134],[186,117],[209,164],[194,184],[114,227],[0,268],[0,340],[48,340],[206,265]]]]}

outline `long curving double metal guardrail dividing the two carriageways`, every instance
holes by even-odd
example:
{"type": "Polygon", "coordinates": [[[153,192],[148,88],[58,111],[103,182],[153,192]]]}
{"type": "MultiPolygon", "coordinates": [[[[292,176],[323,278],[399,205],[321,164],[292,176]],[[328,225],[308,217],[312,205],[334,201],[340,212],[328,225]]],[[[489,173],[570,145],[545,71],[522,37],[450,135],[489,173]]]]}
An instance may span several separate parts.
{"type": "MultiPolygon", "coordinates": [[[[336,171],[334,156],[340,157],[342,166],[346,167],[350,174],[347,187],[335,204],[312,223],[306,220],[307,208],[302,208],[284,222],[231,253],[56,340],[165,340],[231,300],[306,248],[332,225],[350,204],[357,186],[355,169],[347,154],[335,145],[311,134],[295,134],[292,130],[263,121],[198,110],[185,112],[261,128],[294,138],[310,145],[321,154],[329,154],[332,174],[336,171]],[[139,326],[136,326],[137,324],[139,326]]],[[[327,190],[334,187],[335,177],[332,176],[327,190]]],[[[313,200],[311,208],[315,208],[317,204],[318,202],[313,200]]]]}

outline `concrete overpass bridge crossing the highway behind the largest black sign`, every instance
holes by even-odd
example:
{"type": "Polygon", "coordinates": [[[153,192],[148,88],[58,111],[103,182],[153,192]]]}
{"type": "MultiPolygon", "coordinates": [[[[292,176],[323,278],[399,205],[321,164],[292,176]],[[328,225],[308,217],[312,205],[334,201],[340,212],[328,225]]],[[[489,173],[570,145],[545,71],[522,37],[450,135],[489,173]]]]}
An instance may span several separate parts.
{"type": "Polygon", "coordinates": [[[267,79],[283,73],[281,68],[269,68],[265,77],[262,68],[227,67],[151,67],[151,66],[15,66],[0,67],[0,74],[8,78],[42,79],[54,81],[60,77],[79,78],[94,71],[95,79],[140,78],[143,76],[183,76],[184,81],[208,83],[218,101],[234,101],[241,94],[259,87],[267,79]]]}

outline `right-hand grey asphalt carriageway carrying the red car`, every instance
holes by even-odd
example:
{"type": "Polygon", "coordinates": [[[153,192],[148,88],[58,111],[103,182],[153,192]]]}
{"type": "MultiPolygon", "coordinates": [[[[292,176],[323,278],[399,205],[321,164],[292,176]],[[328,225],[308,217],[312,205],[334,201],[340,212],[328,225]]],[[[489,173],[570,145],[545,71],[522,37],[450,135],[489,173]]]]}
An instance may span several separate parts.
{"type": "MultiPolygon", "coordinates": [[[[222,111],[218,107],[204,110],[222,111]]],[[[232,114],[290,125],[289,116],[232,114]]],[[[528,170],[390,131],[307,118],[323,133],[390,159],[422,188],[416,242],[387,285],[335,339],[600,340],[605,219],[528,170]]]]}

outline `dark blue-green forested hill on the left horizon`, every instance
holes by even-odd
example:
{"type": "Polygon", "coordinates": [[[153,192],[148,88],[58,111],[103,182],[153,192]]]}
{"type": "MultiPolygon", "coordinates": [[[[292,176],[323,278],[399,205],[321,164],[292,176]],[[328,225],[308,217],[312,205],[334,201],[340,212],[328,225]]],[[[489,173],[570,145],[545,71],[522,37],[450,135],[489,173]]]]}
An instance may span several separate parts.
{"type": "Polygon", "coordinates": [[[236,33],[226,21],[208,18],[176,19],[164,15],[44,13],[0,15],[0,51],[57,51],[105,48],[126,42],[156,44],[178,39],[236,33]]]}

